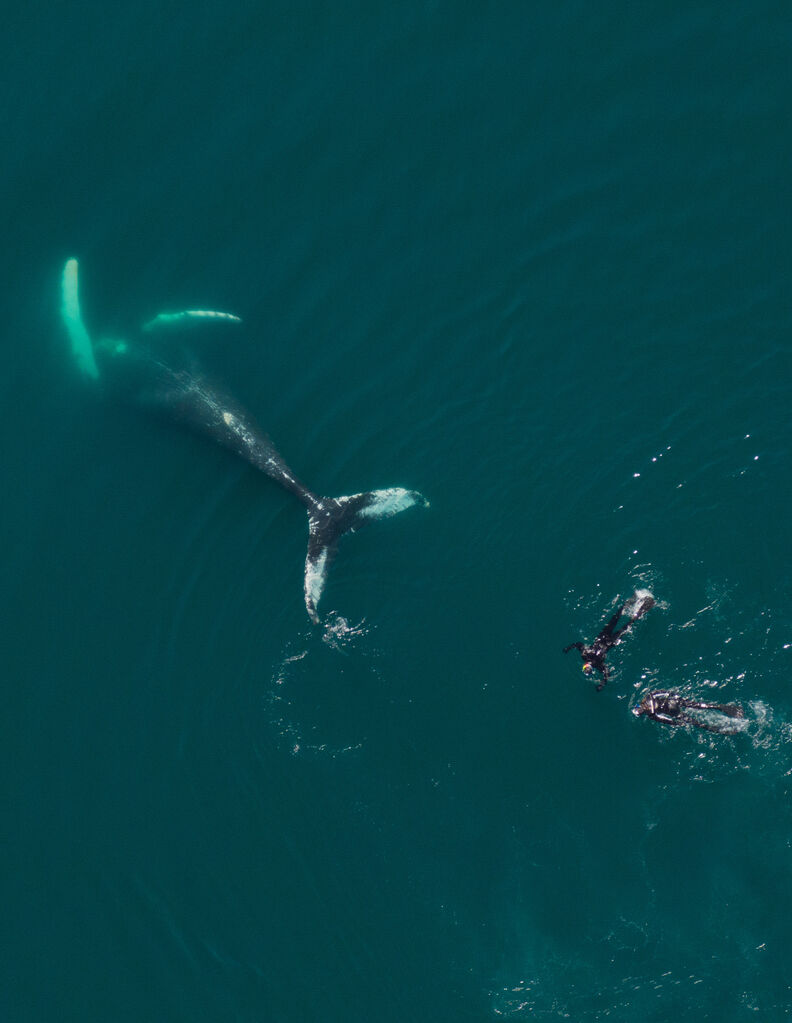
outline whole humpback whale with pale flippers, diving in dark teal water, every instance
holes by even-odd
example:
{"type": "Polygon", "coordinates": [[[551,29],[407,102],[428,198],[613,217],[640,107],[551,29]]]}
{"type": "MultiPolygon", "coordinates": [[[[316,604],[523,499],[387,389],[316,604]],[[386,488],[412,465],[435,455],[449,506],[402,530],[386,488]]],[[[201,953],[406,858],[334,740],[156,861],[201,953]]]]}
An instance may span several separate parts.
{"type": "MultiPolygon", "coordinates": [[[[61,282],[61,318],[72,343],[72,354],[87,376],[103,384],[119,381],[139,403],[162,409],[170,418],[209,436],[246,459],[293,494],[308,513],[308,551],[305,558],[305,607],[314,623],[317,605],[340,538],[377,519],[388,519],[413,505],[428,505],[415,490],[388,487],[345,497],[320,497],[309,490],[283,461],[269,437],[236,402],[218,390],[194,366],[172,364],[156,347],[142,342],[94,343],[80,310],[78,263],[68,260],[61,282]]],[[[205,319],[238,322],[231,313],[186,310],[161,313],[142,327],[150,335],[161,326],[205,319]]]]}

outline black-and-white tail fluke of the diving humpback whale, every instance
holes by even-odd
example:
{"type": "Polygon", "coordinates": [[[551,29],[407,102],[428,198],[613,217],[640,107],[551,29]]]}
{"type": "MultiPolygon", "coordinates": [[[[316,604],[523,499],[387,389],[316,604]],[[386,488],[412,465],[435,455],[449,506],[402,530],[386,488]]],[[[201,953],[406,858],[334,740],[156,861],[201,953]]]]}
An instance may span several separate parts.
{"type": "Polygon", "coordinates": [[[390,519],[429,501],[416,490],[388,487],[348,497],[324,497],[308,508],[308,553],[305,558],[305,608],[311,621],[319,621],[316,606],[341,537],[377,519],[390,519]]]}

